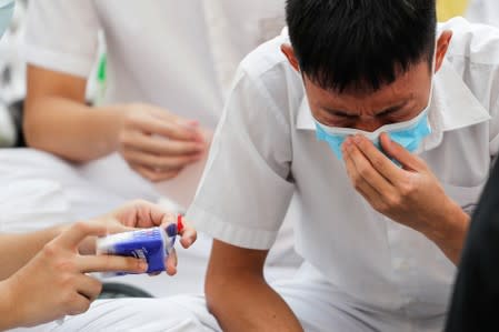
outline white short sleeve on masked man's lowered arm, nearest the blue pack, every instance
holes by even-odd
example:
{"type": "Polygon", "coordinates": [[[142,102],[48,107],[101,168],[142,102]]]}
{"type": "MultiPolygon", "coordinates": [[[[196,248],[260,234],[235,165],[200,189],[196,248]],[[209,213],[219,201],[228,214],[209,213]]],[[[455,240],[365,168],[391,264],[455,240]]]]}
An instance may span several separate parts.
{"type": "Polygon", "coordinates": [[[239,70],[187,215],[199,231],[256,250],[276,241],[295,190],[290,120],[265,77],[276,74],[251,78],[239,70]]]}

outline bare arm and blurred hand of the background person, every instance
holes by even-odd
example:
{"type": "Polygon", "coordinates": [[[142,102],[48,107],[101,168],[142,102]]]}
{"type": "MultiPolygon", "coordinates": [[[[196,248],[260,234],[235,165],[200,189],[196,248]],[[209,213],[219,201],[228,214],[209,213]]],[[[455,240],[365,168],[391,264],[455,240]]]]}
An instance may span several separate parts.
{"type": "Polygon", "coordinates": [[[87,80],[28,67],[24,134],[30,147],[82,163],[118,151],[150,181],[176,178],[208,149],[197,121],[142,103],[93,108],[87,80]]]}

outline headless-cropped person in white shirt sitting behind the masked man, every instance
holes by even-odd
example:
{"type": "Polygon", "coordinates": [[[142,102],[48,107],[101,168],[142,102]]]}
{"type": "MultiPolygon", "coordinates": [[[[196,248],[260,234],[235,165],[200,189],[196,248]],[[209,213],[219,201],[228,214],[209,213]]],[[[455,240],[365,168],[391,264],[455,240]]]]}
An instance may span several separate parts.
{"type": "MultiPolygon", "coordinates": [[[[57,193],[48,194],[62,207],[53,213],[57,222],[91,218],[136,198],[166,197],[180,205],[176,211],[184,212],[236,68],[250,50],[280,33],[283,3],[31,1],[23,46],[24,134],[33,150],[0,151],[0,169],[16,165],[14,183],[24,173],[54,182],[57,193]],[[100,103],[88,105],[86,88],[99,54],[99,32],[106,46],[106,91],[100,103]],[[67,167],[54,172],[61,164],[74,174],[67,167]],[[61,210],[70,215],[59,215],[61,210]]],[[[34,215],[38,211],[33,208],[34,215]]],[[[286,273],[301,262],[293,251],[293,218],[290,212],[268,261],[286,273]]],[[[179,253],[188,255],[182,258],[186,265],[199,270],[174,281],[188,286],[149,292],[201,290],[210,243],[200,237],[196,248],[179,253]]],[[[147,284],[149,280],[140,286],[147,284]]]]}

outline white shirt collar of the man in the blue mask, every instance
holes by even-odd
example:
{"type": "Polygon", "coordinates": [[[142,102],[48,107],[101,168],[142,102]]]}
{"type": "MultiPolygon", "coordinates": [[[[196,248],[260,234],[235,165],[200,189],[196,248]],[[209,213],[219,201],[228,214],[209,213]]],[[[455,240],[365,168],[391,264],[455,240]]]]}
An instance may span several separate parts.
{"type": "MultiPolygon", "coordinates": [[[[432,134],[426,139],[425,150],[440,144],[443,132],[489,121],[489,112],[469,90],[462,78],[447,60],[435,76],[435,92],[429,111],[432,134]]],[[[298,130],[316,130],[307,94],[303,92],[297,117],[298,130]]]]}

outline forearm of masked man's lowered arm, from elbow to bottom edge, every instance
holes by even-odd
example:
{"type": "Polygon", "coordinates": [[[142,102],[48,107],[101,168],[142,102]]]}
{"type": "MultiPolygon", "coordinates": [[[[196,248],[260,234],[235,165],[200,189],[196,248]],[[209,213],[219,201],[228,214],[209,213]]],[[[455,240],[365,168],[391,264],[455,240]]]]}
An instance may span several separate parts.
{"type": "Polygon", "coordinates": [[[302,331],[288,306],[261,278],[207,281],[210,311],[223,331],[302,331]]]}

